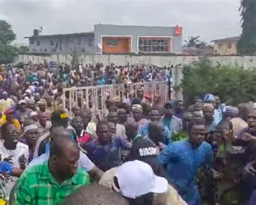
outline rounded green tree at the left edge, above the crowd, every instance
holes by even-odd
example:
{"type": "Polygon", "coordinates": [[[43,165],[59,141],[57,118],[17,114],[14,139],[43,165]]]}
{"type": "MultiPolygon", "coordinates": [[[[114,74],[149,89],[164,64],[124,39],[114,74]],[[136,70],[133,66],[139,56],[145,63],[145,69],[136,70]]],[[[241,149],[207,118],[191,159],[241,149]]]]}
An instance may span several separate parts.
{"type": "Polygon", "coordinates": [[[0,20],[0,63],[10,63],[14,61],[16,49],[11,45],[16,39],[16,34],[12,31],[11,25],[0,20]]]}

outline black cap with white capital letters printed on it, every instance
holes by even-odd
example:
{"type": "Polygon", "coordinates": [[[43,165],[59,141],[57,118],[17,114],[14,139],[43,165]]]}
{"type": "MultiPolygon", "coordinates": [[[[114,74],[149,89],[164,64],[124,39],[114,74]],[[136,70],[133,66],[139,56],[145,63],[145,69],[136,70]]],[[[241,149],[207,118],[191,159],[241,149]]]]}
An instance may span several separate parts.
{"type": "Polygon", "coordinates": [[[146,162],[156,173],[158,170],[157,146],[148,137],[138,137],[132,143],[129,160],[146,162]]]}

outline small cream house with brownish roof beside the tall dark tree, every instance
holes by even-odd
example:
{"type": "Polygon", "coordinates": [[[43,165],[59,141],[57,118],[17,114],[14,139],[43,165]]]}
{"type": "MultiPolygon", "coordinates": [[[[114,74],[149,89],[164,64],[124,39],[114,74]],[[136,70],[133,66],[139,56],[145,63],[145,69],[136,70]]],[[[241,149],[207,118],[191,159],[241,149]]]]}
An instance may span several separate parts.
{"type": "Polygon", "coordinates": [[[237,43],[240,37],[212,40],[214,43],[214,54],[237,55],[237,43]]]}

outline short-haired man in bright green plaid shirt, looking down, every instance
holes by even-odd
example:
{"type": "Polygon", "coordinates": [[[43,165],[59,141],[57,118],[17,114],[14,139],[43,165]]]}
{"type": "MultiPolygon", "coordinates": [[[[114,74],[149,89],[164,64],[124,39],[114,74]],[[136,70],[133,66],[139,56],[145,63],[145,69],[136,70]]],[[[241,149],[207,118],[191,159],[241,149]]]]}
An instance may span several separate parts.
{"type": "Polygon", "coordinates": [[[89,175],[78,168],[78,159],[78,146],[70,137],[56,138],[51,144],[49,160],[28,169],[19,178],[15,201],[58,204],[78,187],[90,185],[89,175]]]}

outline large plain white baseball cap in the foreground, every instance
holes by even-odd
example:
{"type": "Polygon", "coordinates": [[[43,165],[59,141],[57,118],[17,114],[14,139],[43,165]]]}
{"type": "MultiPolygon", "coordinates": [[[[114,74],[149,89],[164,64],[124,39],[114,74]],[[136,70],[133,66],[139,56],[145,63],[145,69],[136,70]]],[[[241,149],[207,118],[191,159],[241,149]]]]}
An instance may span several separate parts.
{"type": "Polygon", "coordinates": [[[154,175],[151,166],[139,160],[125,162],[117,168],[115,176],[122,195],[131,199],[148,193],[164,193],[168,189],[167,180],[154,175]]]}

